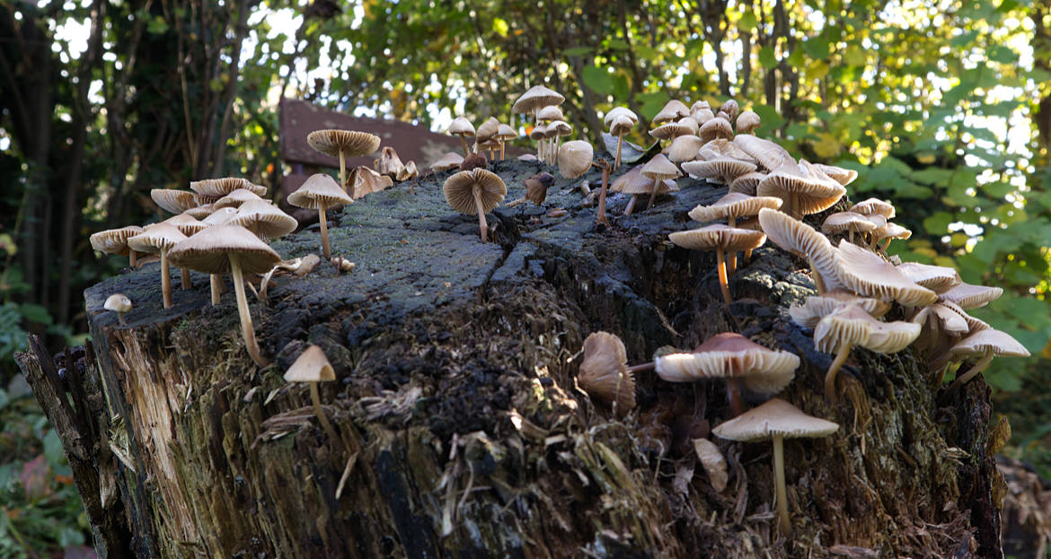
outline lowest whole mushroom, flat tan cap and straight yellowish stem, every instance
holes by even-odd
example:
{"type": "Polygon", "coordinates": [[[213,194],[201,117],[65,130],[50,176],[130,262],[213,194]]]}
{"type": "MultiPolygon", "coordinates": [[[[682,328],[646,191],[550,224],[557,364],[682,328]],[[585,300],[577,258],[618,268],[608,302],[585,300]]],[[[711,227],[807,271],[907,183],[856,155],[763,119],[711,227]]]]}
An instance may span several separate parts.
{"type": "Polygon", "coordinates": [[[784,439],[825,437],[839,428],[839,425],[831,421],[806,415],[783,399],[771,398],[766,403],[717,426],[712,432],[718,437],[739,442],[772,440],[778,522],[782,534],[787,536],[791,534],[791,519],[788,517],[788,495],[785,491],[784,439]]]}

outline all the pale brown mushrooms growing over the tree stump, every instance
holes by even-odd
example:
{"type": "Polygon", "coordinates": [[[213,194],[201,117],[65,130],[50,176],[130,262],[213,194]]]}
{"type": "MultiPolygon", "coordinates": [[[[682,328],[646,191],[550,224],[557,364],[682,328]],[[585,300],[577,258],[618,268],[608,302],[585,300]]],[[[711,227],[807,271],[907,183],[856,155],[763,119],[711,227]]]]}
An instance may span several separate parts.
{"type": "MultiPolygon", "coordinates": [[[[596,222],[609,225],[605,215],[607,190],[632,194],[624,214],[630,214],[639,196],[648,196],[650,205],[658,194],[678,190],[676,179],[683,174],[727,185],[728,192],[708,206],[698,206],[689,216],[707,223],[703,227],[675,232],[669,241],[692,250],[716,252],[716,268],[724,302],[733,302],[728,276],[738,266],[738,253],[747,263],[753,250],[767,239],[782,249],[808,262],[817,294],[804,304],[792,306],[791,319],[812,330],[815,346],[834,355],[825,374],[825,397],[836,405],[839,399],[837,372],[849,358],[850,350],[863,347],[880,353],[894,353],[914,347],[919,355],[936,371],[941,380],[952,363],[967,358],[976,361],[957,374],[947,393],[967,382],[987,367],[994,356],[1028,356],[1026,349],[1010,335],[967,314],[1002,294],[1000,288],[964,284],[955,270],[940,266],[901,263],[884,254],[892,239],[907,239],[909,231],[894,223],[895,210],[888,202],[866,200],[847,211],[828,215],[821,231],[806,224],[806,215],[822,212],[846,194],[846,186],[857,173],[840,167],[811,164],[794,159],[780,145],[757,138],[754,131],[760,118],[753,111],[739,111],[730,100],[718,109],[704,101],[687,107],[673,100],[651,121],[656,127],[650,134],[663,143],[663,152],[643,165],[624,172],[610,184],[611,170],[621,163],[625,134],[638,123],[626,107],[616,107],[604,117],[610,134],[617,138],[614,162],[594,160],[591,144],[581,140],[561,142],[572,134],[559,105],[564,98],[544,87],[526,91],[513,106],[516,113],[531,121],[530,138],[536,140],[537,160],[557,166],[568,179],[582,175],[592,167],[602,171],[596,222]],[[884,243],[881,245],[881,243],[884,243]],[[892,306],[901,308],[905,319],[882,318],[892,306]]],[[[488,241],[486,213],[497,207],[507,194],[499,175],[487,169],[489,160],[504,156],[504,144],[518,137],[515,129],[495,118],[477,129],[466,118],[457,118],[449,130],[458,136],[465,156],[448,153],[433,163],[434,170],[458,169],[444,185],[449,205],[462,213],[478,215],[479,235],[488,241]],[[474,139],[473,147],[467,138],[474,139]]],[[[346,158],[374,153],[379,138],[350,130],[311,132],[308,143],[316,150],[338,158],[339,183],[327,174],[314,174],[288,196],[288,202],[318,212],[324,257],[330,258],[326,211],[353,203],[369,192],[383,190],[393,180],[418,177],[413,162],[403,164],[390,147],[385,147],[373,168],[356,167],[347,173],[346,158]]],[[[526,196],[509,205],[531,201],[540,205],[554,177],[540,172],[527,180],[526,196]]],[[[218,305],[225,287],[223,274],[229,274],[236,296],[242,333],[251,358],[261,367],[270,364],[255,343],[251,314],[245,295],[245,276],[266,274],[257,293],[265,294],[269,277],[282,270],[303,275],[320,261],[296,258],[284,262],[266,240],[288,234],[298,227],[296,221],[274,206],[266,189],[246,179],[210,179],[190,183],[191,190],[158,189],[151,192],[162,209],[176,215],[145,227],[125,227],[91,235],[97,250],[128,255],[131,266],[141,265],[140,254],[153,254],[161,262],[163,305],[172,305],[169,263],[183,269],[182,287],[190,289],[188,270],[210,274],[212,304],[218,305]]],[[[338,270],[350,270],[353,263],[331,258],[338,270]]],[[[251,284],[249,284],[251,285],[251,284]]],[[[254,290],[254,286],[252,286],[254,290]]],[[[124,313],[131,302],[115,294],[106,309],[124,313]]],[[[718,334],[693,351],[664,353],[653,361],[634,367],[626,363],[623,343],[614,334],[592,333],[584,341],[583,361],[577,381],[594,399],[612,407],[615,415],[625,415],[635,407],[636,373],[653,370],[664,381],[689,382],[723,379],[734,418],[714,429],[717,436],[737,440],[770,440],[774,444],[774,472],[779,524],[784,534],[791,530],[785,497],[783,439],[820,437],[834,433],[834,422],[810,417],[790,403],[772,397],[794,379],[800,365],[798,356],[764,348],[737,333],[718,334]],[[766,403],[745,411],[742,391],[769,397],[766,403]]],[[[318,421],[329,436],[338,437],[321,408],[317,382],[334,379],[324,353],[311,346],[288,371],[289,381],[311,384],[311,399],[318,421]]],[[[725,485],[725,462],[712,441],[695,441],[698,455],[714,483],[725,485]],[[721,465],[720,465],[721,463],[721,465]],[[720,472],[721,468],[721,472],[720,472]]],[[[717,491],[721,491],[717,488],[717,491]]]]}

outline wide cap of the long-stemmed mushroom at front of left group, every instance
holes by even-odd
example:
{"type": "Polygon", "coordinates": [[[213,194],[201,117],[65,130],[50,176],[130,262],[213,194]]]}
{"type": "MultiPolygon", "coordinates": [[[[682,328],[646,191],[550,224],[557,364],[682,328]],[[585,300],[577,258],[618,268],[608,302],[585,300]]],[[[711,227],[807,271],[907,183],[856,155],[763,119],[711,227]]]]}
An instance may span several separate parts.
{"type": "Polygon", "coordinates": [[[168,251],[172,266],[204,273],[230,271],[229,254],[235,254],[244,273],[270,271],[281,255],[240,225],[213,225],[168,251]]]}

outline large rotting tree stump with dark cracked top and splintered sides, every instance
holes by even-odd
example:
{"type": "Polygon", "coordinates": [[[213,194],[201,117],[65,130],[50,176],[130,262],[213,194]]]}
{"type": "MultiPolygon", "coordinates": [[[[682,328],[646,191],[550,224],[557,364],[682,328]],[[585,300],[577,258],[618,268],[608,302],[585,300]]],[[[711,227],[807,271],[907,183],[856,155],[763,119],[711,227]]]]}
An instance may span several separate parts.
{"type": "MultiPolygon", "coordinates": [[[[540,170],[491,168],[509,200],[540,170]]],[[[476,216],[446,205],[448,174],[332,212],[333,254],[352,272],[323,263],[276,277],[267,301],[250,295],[270,367],[245,352],[232,293],[210,306],[208,277],[193,273],[163,310],[157,265],[85,291],[94,358],[66,375],[71,396],[43,351],[19,356],[81,463],[101,557],[1000,556],[986,385],[940,407],[910,350],[856,350],[830,406],[831,356],[787,315],[813,292],[806,264],[757,250],[727,307],[715,255],[667,241],[725,186],[683,179],[628,218],[612,194],[614,225],[596,231],[595,209],[559,180],[547,204],[564,216],[497,208],[496,242],[482,244],[476,216]],[[118,292],[136,305],[127,326],[102,309],[118,292]],[[631,364],[724,331],[801,356],[781,397],[841,428],[785,443],[792,537],[776,527],[769,446],[709,435],[729,417],[721,387],[640,373],[623,418],[576,388],[597,330],[621,336],[631,364]],[[307,344],[335,369],[322,400],[341,441],[308,390],[282,378],[307,344]],[[696,459],[699,437],[726,457],[721,492],[696,459]]],[[[273,246],[320,252],[315,230],[273,246]]]]}

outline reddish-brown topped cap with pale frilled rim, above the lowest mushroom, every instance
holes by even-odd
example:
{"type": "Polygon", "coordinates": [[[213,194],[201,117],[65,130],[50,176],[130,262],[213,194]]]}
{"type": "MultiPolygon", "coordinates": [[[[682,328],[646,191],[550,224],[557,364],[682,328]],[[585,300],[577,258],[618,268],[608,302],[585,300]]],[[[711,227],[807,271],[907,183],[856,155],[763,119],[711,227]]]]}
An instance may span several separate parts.
{"type": "Polygon", "coordinates": [[[657,375],[668,382],[701,378],[741,377],[748,390],[777,394],[796,376],[799,357],[775,351],[741,334],[724,332],[709,337],[691,353],[657,358],[657,375]]]}

